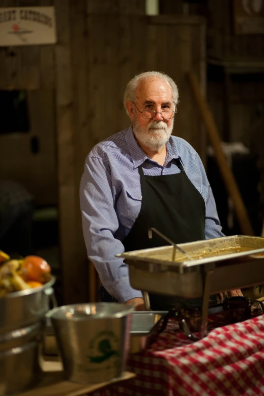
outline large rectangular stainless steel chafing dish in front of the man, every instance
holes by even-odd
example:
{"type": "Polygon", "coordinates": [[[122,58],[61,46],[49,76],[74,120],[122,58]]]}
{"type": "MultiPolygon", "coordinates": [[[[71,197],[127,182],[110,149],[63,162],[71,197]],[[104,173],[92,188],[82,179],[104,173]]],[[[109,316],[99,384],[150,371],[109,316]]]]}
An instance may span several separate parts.
{"type": "MultiPolygon", "coordinates": [[[[264,284],[264,238],[234,235],[179,246],[192,255],[200,249],[246,247],[249,250],[193,260],[172,261],[154,258],[171,254],[173,246],[135,250],[117,254],[129,268],[132,287],[147,293],[203,298],[201,336],[205,335],[210,294],[264,284]],[[232,245],[233,244],[233,245],[232,245]],[[251,248],[252,246],[252,248],[251,248]]],[[[176,257],[177,259],[177,257],[176,257]]]]}

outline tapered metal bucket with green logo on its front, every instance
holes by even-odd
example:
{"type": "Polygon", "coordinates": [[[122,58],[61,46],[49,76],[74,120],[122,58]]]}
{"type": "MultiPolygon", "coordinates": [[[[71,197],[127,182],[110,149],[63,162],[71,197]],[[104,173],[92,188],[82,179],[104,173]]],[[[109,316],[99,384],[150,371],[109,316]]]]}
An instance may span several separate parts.
{"type": "Polygon", "coordinates": [[[60,306],[51,318],[63,361],[64,378],[100,383],[121,376],[129,349],[133,306],[90,303],[60,306]]]}

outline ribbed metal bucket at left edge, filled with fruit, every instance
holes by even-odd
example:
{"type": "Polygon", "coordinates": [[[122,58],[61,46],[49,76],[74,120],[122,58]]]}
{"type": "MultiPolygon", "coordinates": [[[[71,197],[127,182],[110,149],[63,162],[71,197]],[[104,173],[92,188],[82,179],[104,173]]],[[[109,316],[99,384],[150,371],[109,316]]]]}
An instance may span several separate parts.
{"type": "Polygon", "coordinates": [[[0,396],[28,389],[41,377],[39,346],[54,283],[53,277],[42,287],[0,298],[0,396]]]}

